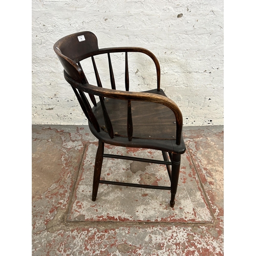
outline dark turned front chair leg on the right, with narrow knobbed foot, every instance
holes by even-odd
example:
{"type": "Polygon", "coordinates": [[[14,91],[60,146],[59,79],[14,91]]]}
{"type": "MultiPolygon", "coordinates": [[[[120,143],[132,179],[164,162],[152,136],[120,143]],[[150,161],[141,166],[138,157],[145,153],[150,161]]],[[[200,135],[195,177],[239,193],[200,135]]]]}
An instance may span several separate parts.
{"type": "Polygon", "coordinates": [[[179,173],[180,173],[180,154],[173,154],[172,161],[172,184],[170,188],[171,196],[170,196],[170,207],[174,207],[175,204],[175,195],[177,192],[178,181],[179,181],[179,173]]]}

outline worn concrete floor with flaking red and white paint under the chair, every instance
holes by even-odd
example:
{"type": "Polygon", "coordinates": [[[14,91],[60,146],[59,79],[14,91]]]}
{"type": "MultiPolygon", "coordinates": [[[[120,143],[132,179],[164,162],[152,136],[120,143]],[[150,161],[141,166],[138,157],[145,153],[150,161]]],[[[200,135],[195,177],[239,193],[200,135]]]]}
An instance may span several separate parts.
{"type": "MultiPolygon", "coordinates": [[[[32,125],[32,255],[223,255],[223,126],[184,127],[174,208],[168,190],[99,185],[88,126],[32,125]]],[[[162,160],[158,151],[105,152],[162,160]]],[[[164,165],[104,159],[102,179],[168,185],[164,165]]]]}

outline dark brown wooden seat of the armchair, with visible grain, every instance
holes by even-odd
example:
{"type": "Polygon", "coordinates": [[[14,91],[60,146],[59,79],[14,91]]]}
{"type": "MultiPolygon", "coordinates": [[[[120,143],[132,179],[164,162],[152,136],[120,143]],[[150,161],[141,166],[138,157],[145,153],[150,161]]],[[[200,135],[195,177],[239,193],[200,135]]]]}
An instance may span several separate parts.
{"type": "MultiPolygon", "coordinates": [[[[166,96],[163,90],[155,89],[146,92],[166,96]]],[[[98,133],[92,125],[89,126],[98,139],[120,146],[150,147],[179,154],[185,152],[183,139],[180,145],[176,144],[176,119],[173,111],[167,106],[154,102],[132,101],[133,139],[129,141],[127,138],[127,101],[105,98],[104,103],[112,122],[114,138],[111,139],[106,131],[101,105],[97,104],[93,107],[93,113],[101,131],[98,133]]]]}

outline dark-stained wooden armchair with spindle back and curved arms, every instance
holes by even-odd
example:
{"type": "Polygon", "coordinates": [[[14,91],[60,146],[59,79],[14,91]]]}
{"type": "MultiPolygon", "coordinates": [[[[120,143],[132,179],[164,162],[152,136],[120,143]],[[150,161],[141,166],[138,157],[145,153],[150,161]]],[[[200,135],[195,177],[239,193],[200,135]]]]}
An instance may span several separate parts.
{"type": "Polygon", "coordinates": [[[99,140],[95,159],[92,200],[96,200],[99,183],[104,183],[170,190],[170,207],[174,207],[181,154],[186,150],[182,138],[182,114],[176,103],[160,89],[160,66],[155,55],[139,47],[99,49],[97,37],[89,31],[78,32],[59,39],[54,44],[54,51],[64,68],[64,77],[71,84],[89,121],[91,132],[99,140]],[[111,62],[111,54],[120,52],[125,53],[125,91],[116,90],[111,62]],[[156,89],[146,92],[129,91],[128,53],[130,55],[132,52],[144,53],[154,61],[157,71],[156,89]],[[102,87],[94,60],[94,56],[99,54],[108,56],[112,89],[102,87]],[[89,83],[82,70],[80,61],[86,58],[92,60],[97,86],[89,83]],[[90,97],[92,103],[86,95],[90,97]],[[98,102],[96,102],[95,96],[99,96],[98,102]],[[163,154],[163,161],[104,154],[104,143],[160,150],[163,154]],[[167,167],[170,186],[101,180],[103,157],[164,164],[167,167]]]}

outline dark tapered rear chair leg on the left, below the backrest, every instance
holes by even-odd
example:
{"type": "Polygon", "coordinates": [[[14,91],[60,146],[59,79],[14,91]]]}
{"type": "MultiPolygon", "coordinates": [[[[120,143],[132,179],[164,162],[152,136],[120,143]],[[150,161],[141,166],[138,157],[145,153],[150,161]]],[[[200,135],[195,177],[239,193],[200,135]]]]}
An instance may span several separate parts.
{"type": "Polygon", "coordinates": [[[104,142],[99,140],[99,145],[98,145],[98,150],[97,150],[95,165],[94,165],[92,201],[96,201],[96,197],[98,193],[101,167],[102,167],[102,161],[103,161],[103,152],[104,152],[104,142]]]}

